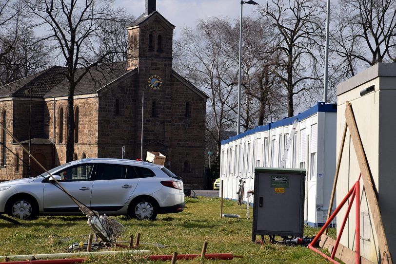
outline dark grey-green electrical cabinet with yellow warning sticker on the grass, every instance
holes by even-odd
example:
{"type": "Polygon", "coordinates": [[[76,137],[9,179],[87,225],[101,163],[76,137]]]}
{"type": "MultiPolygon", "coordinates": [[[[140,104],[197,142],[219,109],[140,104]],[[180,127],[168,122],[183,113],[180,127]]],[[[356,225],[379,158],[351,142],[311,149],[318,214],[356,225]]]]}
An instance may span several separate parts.
{"type": "Polygon", "coordinates": [[[256,235],[303,237],[305,169],[256,168],[252,241],[256,235]]]}

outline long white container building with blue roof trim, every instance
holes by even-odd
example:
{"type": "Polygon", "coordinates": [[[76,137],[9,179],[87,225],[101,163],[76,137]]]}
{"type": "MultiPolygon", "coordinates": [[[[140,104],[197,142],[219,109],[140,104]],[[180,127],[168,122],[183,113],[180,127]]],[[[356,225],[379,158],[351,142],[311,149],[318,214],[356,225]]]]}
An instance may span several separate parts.
{"type": "Polygon", "coordinates": [[[223,196],[236,200],[239,179],[242,178],[246,180],[243,199],[246,202],[247,191],[254,189],[255,168],[280,168],[285,142],[296,119],[297,127],[285,168],[306,170],[304,222],[309,226],[320,226],[326,221],[336,170],[336,104],[319,102],[296,116],[221,141],[223,196]]]}

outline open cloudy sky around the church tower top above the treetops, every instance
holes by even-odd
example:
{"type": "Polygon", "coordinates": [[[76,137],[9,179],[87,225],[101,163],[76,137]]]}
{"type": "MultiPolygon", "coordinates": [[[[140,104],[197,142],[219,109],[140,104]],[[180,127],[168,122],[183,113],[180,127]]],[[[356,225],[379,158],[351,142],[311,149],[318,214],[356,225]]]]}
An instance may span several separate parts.
{"type": "MultiPolygon", "coordinates": [[[[257,3],[264,0],[256,0],[257,3]]],[[[145,0],[116,0],[116,3],[136,18],[144,13],[145,0]]],[[[257,10],[256,5],[244,4],[243,16],[257,10]]],[[[240,0],[157,0],[157,11],[176,26],[176,38],[183,27],[194,27],[197,20],[210,17],[239,19],[240,0]]]]}

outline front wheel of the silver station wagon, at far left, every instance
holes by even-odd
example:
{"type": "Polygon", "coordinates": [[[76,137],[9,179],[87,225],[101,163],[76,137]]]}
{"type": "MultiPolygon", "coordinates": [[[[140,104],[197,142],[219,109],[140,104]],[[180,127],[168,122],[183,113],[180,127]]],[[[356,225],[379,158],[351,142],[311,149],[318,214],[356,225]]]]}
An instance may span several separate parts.
{"type": "Polygon", "coordinates": [[[6,212],[20,220],[32,220],[36,216],[37,207],[32,198],[20,196],[7,202],[6,212]]]}

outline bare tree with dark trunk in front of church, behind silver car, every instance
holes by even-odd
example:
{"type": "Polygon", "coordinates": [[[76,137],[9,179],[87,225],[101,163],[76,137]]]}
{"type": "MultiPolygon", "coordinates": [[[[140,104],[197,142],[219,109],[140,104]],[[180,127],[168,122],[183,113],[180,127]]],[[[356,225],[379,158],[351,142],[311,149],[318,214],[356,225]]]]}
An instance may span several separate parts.
{"type": "Polygon", "coordinates": [[[108,21],[116,20],[119,10],[112,8],[111,0],[35,0],[27,2],[30,10],[41,21],[60,57],[66,62],[68,80],[66,162],[74,153],[74,91],[90,69],[106,61],[117,50],[102,52],[98,43],[108,21]]]}

